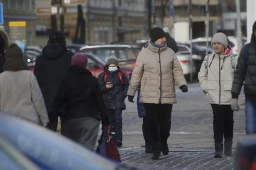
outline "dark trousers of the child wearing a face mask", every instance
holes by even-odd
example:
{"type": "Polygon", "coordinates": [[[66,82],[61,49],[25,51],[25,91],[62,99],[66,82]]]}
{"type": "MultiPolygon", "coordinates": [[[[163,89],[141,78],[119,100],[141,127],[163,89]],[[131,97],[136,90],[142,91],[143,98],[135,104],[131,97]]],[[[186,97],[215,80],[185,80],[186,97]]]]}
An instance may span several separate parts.
{"type": "Polygon", "coordinates": [[[112,135],[112,139],[114,141],[117,141],[117,140],[123,141],[122,111],[123,111],[122,109],[107,111],[107,115],[109,118],[109,131],[115,132],[115,134],[112,135]]]}

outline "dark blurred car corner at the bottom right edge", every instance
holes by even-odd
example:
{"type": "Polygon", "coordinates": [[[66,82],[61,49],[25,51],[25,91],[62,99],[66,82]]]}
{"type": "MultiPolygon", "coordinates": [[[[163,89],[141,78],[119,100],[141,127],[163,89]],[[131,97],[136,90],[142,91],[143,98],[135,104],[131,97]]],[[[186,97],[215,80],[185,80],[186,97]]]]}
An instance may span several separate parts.
{"type": "Polygon", "coordinates": [[[256,135],[247,135],[239,139],[235,154],[236,170],[256,169],[256,135]]]}

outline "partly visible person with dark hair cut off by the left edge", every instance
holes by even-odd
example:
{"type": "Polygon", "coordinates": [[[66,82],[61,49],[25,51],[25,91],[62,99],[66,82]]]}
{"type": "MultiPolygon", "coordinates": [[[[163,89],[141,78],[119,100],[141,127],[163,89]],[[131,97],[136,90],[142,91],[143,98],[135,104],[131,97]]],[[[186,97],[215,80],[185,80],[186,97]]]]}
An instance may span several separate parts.
{"type": "Polygon", "coordinates": [[[9,46],[9,38],[4,29],[0,29],[0,73],[2,73],[2,67],[5,62],[5,51],[9,46]]]}

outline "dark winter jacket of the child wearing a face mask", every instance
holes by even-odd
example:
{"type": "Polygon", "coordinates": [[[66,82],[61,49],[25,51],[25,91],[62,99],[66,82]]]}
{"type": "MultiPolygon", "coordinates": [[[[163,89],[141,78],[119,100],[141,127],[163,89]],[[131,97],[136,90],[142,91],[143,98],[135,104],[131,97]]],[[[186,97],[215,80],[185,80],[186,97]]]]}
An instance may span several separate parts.
{"type": "Polygon", "coordinates": [[[126,75],[122,72],[121,77],[123,79],[123,85],[121,85],[120,79],[118,77],[118,71],[121,71],[118,68],[117,71],[111,72],[105,69],[103,73],[100,73],[98,83],[100,86],[100,90],[103,93],[103,99],[106,105],[107,110],[115,110],[115,109],[126,109],[126,104],[124,103],[124,99],[127,96],[127,90],[129,87],[129,80],[126,75]],[[113,87],[109,90],[106,89],[106,84],[104,83],[104,75],[108,72],[108,77],[106,77],[106,82],[112,82],[113,87]]]}

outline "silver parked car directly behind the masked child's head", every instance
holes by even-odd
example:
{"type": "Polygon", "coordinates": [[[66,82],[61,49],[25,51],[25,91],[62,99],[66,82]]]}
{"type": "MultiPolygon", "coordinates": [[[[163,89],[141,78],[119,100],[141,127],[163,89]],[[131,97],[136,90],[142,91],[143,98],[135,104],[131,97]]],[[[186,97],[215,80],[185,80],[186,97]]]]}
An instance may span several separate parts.
{"type": "Polygon", "coordinates": [[[107,61],[111,56],[115,56],[119,61],[119,65],[125,65],[126,67],[133,68],[135,65],[136,57],[140,50],[140,47],[128,44],[109,44],[84,46],[81,47],[79,52],[97,55],[104,61],[107,61]]]}

